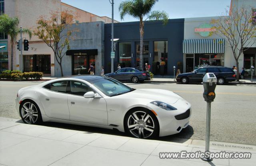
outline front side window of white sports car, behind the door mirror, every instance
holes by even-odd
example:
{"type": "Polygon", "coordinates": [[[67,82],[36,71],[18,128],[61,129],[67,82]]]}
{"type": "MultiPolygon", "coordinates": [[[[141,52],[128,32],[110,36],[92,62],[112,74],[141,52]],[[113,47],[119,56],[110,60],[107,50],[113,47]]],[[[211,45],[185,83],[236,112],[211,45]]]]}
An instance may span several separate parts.
{"type": "Polygon", "coordinates": [[[86,92],[93,91],[88,85],[80,81],[70,81],[70,86],[67,88],[68,94],[84,96],[86,92]]]}

